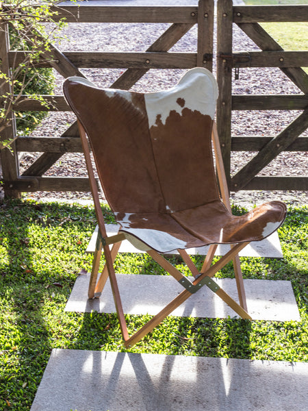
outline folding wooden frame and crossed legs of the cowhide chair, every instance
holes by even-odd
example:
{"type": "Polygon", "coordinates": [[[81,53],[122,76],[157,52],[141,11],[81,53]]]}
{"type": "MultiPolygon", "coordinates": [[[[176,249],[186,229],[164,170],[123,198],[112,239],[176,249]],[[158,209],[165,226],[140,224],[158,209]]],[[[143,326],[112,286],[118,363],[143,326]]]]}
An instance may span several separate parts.
{"type": "MultiPolygon", "coordinates": [[[[94,200],[94,208],[97,214],[97,222],[99,225],[99,234],[97,236],[97,244],[96,249],[94,251],[94,259],[92,263],[92,271],[90,275],[90,284],[88,288],[88,297],[92,299],[94,297],[99,297],[105,286],[105,282],[107,281],[107,277],[110,278],[110,284],[112,287],[112,294],[114,297],[114,303],[116,306],[116,312],[118,314],[118,320],[120,323],[120,329],[123,336],[125,347],[132,347],[136,343],[138,343],[146,334],[151,332],[154,327],[159,325],[166,316],[168,316],[175,308],[177,308],[181,303],[183,303],[188,297],[190,297],[194,292],[198,291],[202,288],[203,285],[207,285],[213,292],[216,293],[225,303],[227,303],[237,314],[239,314],[242,319],[251,319],[251,316],[247,312],[246,306],[246,296],[244,290],[244,283],[242,278],[242,271],[240,268],[240,258],[238,253],[242,250],[249,242],[242,242],[237,245],[231,245],[231,250],[222,256],[216,264],[211,265],[211,262],[214,258],[214,253],[216,251],[217,245],[210,245],[209,251],[207,256],[205,257],[205,261],[203,263],[203,267],[201,272],[198,271],[194,263],[192,262],[188,253],[183,250],[179,249],[179,254],[185,264],[187,264],[188,268],[190,269],[194,281],[190,281],[188,277],[185,277],[180,271],[175,269],[170,262],[168,262],[161,254],[157,253],[157,251],[150,249],[149,246],[145,245],[143,242],[138,240],[138,242],[144,245],[144,250],[155,260],[158,262],[163,269],[165,269],[172,277],[177,279],[177,281],[185,288],[175,299],[170,301],[168,305],[161,310],[158,314],[153,316],[153,318],[146,323],[143,327],[138,329],[138,331],[133,334],[133,336],[129,336],[127,331],[127,323],[125,321],[125,315],[123,312],[123,306],[120,299],[120,292],[118,290],[118,284],[116,280],[116,273],[114,271],[114,260],[118,254],[118,250],[120,248],[120,244],[123,240],[129,239],[129,235],[125,233],[119,233],[114,236],[107,237],[106,229],[105,229],[105,222],[103,219],[103,212],[101,210],[101,204],[99,201],[99,193],[97,190],[97,182],[94,178],[94,170],[92,167],[92,161],[90,158],[90,149],[88,145],[88,139],[86,136],[86,132],[84,127],[78,121],[79,127],[79,134],[81,137],[82,146],[84,149],[84,155],[86,159],[86,166],[88,169],[88,175],[90,179],[90,186],[92,190],[92,196],[94,200]],[[110,245],[112,245],[112,249],[110,249],[110,245]],[[105,266],[101,275],[98,277],[99,273],[99,264],[101,261],[101,253],[105,254],[105,266]],[[238,295],[240,304],[238,304],[234,299],[232,299],[216,282],[214,282],[211,277],[213,277],[218,270],[222,269],[222,267],[227,264],[229,261],[233,260],[233,266],[235,271],[235,279],[236,284],[238,287],[238,295]]],[[[222,197],[222,201],[227,209],[231,212],[231,206],[229,202],[229,190],[227,187],[227,179],[224,174],[224,166],[222,162],[222,154],[220,151],[220,144],[219,138],[217,133],[217,127],[214,123],[213,131],[212,131],[212,142],[214,145],[214,153],[216,158],[216,171],[218,177],[218,183],[220,186],[220,195],[222,197]]]]}

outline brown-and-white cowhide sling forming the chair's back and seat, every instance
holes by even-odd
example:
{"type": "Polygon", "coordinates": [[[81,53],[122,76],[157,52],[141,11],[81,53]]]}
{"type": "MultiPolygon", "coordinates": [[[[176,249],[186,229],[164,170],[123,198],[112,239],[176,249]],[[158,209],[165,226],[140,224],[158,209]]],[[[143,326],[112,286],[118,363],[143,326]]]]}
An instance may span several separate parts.
{"type": "Polygon", "coordinates": [[[261,240],[285,218],[280,201],[233,216],[220,200],[209,115],[215,92],[204,75],[211,78],[193,69],[176,88],[148,95],[78,77],[64,83],[121,229],[159,252],[261,240]]]}

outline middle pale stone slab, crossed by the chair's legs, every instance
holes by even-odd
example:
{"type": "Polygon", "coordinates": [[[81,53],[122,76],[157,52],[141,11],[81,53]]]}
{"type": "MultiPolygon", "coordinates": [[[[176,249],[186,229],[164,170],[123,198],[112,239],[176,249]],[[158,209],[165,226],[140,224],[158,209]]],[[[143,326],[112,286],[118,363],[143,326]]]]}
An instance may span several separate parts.
{"type": "MultiPolygon", "coordinates": [[[[117,274],[125,314],[155,315],[184,288],[170,275],[117,274]]],[[[238,301],[235,279],[214,279],[231,297],[238,301]]],[[[116,312],[109,279],[99,299],[88,299],[90,274],[77,277],[66,304],[66,311],[116,312]]],[[[300,321],[292,284],[289,281],[244,279],[248,313],[254,320],[300,321]]],[[[231,318],[237,314],[207,286],[203,286],[181,306],[174,316],[231,318]]]]}

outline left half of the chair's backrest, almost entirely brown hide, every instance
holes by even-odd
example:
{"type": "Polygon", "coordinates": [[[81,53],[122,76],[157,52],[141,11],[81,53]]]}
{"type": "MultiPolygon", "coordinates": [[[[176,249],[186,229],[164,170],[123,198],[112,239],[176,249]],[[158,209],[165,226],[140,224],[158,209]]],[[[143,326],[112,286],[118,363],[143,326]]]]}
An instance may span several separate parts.
{"type": "Polygon", "coordinates": [[[86,129],[111,208],[164,211],[143,95],[73,81],[64,83],[64,93],[86,129]]]}

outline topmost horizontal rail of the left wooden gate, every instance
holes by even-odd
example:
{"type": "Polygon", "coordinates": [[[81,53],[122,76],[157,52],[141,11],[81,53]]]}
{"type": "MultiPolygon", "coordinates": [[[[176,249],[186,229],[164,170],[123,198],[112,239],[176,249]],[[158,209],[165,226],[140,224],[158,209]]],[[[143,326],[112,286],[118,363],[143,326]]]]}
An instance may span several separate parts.
{"type": "Polygon", "coordinates": [[[61,5],[55,20],[68,23],[196,23],[198,8],[186,6],[61,5]]]}

